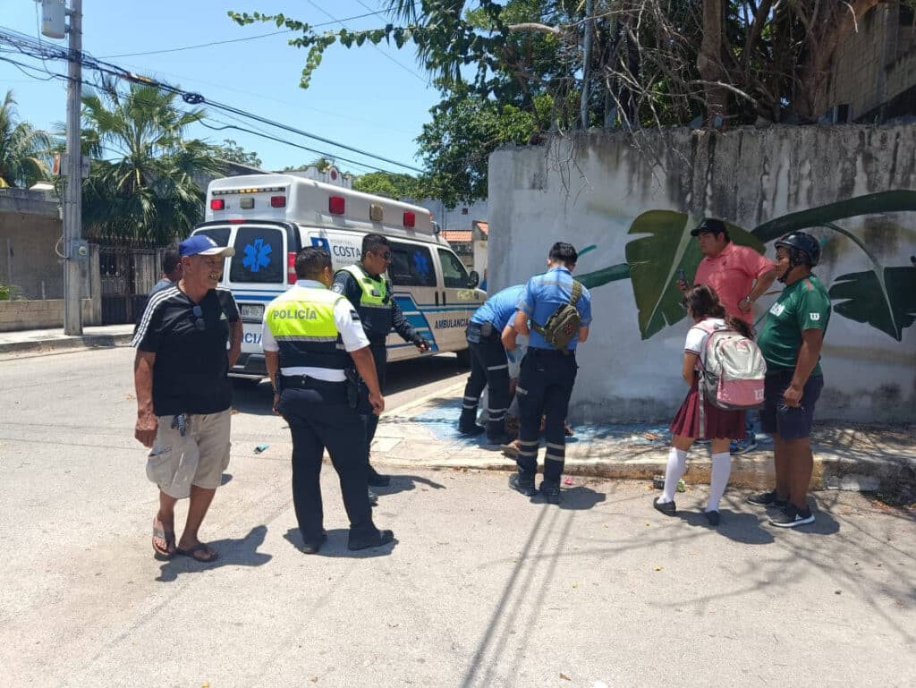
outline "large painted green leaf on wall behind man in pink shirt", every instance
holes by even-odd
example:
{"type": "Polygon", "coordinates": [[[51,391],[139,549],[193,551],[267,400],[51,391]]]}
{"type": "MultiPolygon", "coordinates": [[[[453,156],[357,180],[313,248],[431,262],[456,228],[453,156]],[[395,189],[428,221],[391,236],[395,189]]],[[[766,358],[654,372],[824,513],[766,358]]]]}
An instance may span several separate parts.
{"type": "MultiPolygon", "coordinates": [[[[630,235],[645,235],[627,243],[627,264],[633,281],[633,296],[639,311],[639,333],[649,339],[666,324],[686,316],[677,286],[678,269],[696,274],[701,254],[690,235],[694,224],[685,213],[653,210],[642,213],[630,225],[630,235]]],[[[725,223],[728,235],[740,246],[764,252],[763,243],[735,224],[725,223]]]]}

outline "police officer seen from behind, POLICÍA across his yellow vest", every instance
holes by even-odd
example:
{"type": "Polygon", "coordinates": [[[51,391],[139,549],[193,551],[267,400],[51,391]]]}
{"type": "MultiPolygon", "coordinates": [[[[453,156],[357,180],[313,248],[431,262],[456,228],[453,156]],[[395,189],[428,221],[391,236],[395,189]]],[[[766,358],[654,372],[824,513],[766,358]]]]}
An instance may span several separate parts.
{"type": "Polygon", "coordinates": [[[262,343],[274,410],[292,434],[292,497],[302,551],[314,554],[327,538],[319,484],[325,447],[340,475],[349,549],[377,547],[394,534],[376,529],[366,496],[367,450],[359,411],[377,415],[385,409],[369,342],[353,307],[329,289],[333,270],[326,250],[302,249],[296,277],[296,286],[267,306],[262,343]],[[356,385],[354,365],[363,388],[356,385]]]}

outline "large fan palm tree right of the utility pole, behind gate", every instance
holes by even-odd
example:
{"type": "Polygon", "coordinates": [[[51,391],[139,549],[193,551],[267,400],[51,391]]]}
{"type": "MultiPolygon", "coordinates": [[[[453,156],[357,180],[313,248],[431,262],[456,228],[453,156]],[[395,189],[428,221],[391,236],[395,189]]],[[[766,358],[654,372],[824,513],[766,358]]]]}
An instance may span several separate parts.
{"type": "Polygon", "coordinates": [[[85,234],[100,243],[165,246],[203,219],[197,180],[223,173],[213,147],[186,139],[205,116],[181,111],[175,93],[132,83],[126,93],[104,82],[82,98],[83,155],[93,158],[83,185],[85,234]]]}

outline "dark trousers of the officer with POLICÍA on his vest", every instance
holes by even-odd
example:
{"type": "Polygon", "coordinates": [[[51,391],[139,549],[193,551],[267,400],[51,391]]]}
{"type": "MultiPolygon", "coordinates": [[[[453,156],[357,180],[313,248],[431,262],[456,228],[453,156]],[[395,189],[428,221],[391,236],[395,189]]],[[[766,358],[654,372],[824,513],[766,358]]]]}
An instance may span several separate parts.
{"type": "Polygon", "coordinates": [[[364,425],[346,403],[344,383],[309,378],[303,387],[284,387],[279,410],[292,434],[292,501],[302,540],[322,541],[324,512],[319,475],[325,448],[340,476],[351,535],[374,535],[364,425]]]}

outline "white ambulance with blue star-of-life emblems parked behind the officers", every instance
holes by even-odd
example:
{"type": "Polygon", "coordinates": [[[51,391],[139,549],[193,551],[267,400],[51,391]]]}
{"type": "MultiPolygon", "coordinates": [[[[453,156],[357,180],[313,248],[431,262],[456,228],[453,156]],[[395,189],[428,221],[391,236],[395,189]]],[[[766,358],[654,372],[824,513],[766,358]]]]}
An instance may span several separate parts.
{"type": "MultiPolygon", "coordinates": [[[[242,355],[231,376],[267,375],[264,309],[295,283],[300,249],[328,249],[337,270],[359,260],[363,236],[372,232],[391,242],[388,278],[411,327],[430,341],[433,353],[457,352],[466,365],[464,328],[486,294],[476,289],[477,273],[468,274],[428,210],[292,175],[259,174],[213,180],[205,217],[193,234],[235,248],[221,281],[232,290],[245,325],[242,355]]],[[[393,331],[387,347],[389,361],[420,356],[393,331]]]]}

